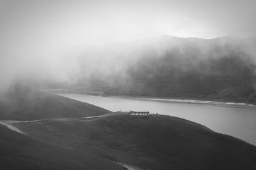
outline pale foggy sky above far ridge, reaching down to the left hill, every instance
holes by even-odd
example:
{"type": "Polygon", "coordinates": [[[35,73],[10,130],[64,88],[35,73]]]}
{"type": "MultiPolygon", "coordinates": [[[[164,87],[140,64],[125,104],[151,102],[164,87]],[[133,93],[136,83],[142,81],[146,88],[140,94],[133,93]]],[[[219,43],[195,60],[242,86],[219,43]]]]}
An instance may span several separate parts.
{"type": "Polygon", "coordinates": [[[23,74],[65,80],[67,74],[79,72],[67,53],[88,45],[161,34],[253,37],[255,4],[253,0],[0,0],[2,86],[23,74]]]}

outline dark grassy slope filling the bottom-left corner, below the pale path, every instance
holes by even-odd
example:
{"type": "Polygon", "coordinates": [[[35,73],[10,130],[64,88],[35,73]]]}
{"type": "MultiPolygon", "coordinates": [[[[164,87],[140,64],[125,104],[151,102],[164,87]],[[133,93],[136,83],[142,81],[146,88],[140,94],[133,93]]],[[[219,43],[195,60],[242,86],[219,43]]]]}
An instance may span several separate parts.
{"type": "Polygon", "coordinates": [[[45,143],[0,125],[0,169],[123,169],[92,153],[45,143]]]}

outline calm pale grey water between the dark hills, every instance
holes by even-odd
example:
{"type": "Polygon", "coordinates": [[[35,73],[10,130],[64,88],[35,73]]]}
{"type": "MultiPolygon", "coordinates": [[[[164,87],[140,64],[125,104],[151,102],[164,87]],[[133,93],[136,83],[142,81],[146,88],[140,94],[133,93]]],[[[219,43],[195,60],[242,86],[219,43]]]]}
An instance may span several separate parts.
{"type": "Polygon", "coordinates": [[[150,111],[150,113],[186,118],[205,125],[213,131],[229,134],[256,145],[255,107],[175,103],[136,97],[101,97],[64,93],[58,95],[91,103],[111,111],[150,111]]]}

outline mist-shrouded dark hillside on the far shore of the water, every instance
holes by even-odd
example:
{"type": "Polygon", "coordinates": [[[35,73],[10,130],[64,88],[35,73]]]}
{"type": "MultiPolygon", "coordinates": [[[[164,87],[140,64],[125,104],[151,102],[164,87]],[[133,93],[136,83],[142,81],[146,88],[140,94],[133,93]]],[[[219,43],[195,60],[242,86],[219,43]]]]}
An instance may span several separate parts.
{"type": "Polygon", "coordinates": [[[255,42],[161,36],[109,45],[84,54],[95,56],[99,67],[80,76],[76,86],[108,86],[101,90],[115,95],[255,102],[255,42]]]}

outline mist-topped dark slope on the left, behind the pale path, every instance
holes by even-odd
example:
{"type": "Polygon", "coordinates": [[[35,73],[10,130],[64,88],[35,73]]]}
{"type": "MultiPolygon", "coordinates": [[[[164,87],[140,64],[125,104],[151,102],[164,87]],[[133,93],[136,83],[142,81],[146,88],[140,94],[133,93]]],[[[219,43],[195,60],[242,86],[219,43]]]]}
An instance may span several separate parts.
{"type": "Polygon", "coordinates": [[[0,120],[38,120],[45,118],[76,118],[102,115],[108,110],[14,85],[0,99],[0,120]]]}

